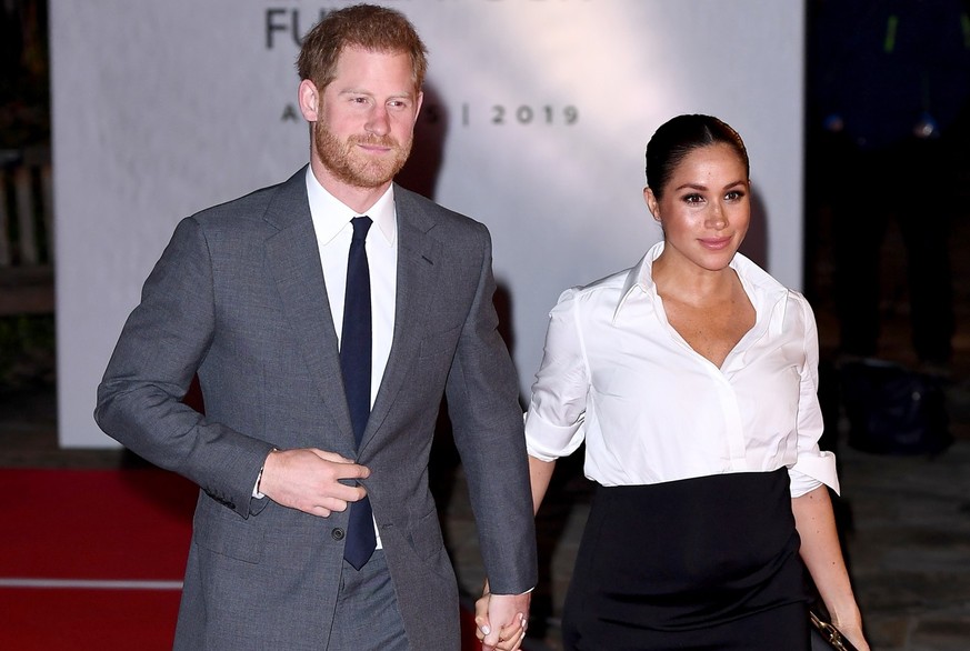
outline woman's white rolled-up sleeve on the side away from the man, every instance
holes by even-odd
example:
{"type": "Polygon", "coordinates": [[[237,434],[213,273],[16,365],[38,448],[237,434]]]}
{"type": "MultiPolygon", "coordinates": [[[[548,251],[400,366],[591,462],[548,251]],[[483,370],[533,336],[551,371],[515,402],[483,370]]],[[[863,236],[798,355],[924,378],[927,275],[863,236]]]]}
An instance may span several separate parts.
{"type": "Polygon", "coordinates": [[[819,449],[824,423],[819,404],[819,337],[814,314],[801,299],[804,317],[804,365],[801,369],[798,407],[798,461],[789,469],[791,497],[801,497],[821,484],[839,492],[836,455],[819,449]]]}

